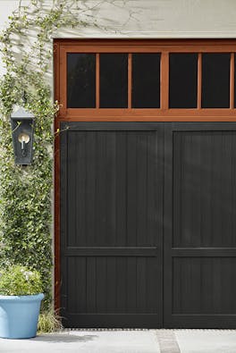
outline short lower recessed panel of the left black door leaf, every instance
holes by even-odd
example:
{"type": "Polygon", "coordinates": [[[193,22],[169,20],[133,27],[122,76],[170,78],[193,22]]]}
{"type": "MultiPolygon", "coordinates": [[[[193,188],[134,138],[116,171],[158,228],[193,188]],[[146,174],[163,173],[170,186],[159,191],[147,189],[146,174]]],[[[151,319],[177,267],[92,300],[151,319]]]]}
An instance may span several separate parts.
{"type": "Polygon", "coordinates": [[[154,256],[68,256],[68,313],[154,314],[157,272],[154,256]]]}

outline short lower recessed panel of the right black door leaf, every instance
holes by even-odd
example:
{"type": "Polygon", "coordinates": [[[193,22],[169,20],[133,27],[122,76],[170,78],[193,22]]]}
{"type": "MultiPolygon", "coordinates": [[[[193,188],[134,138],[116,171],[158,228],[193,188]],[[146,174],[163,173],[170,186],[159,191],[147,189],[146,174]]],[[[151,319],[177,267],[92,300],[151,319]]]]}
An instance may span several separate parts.
{"type": "Polygon", "coordinates": [[[235,315],[235,275],[235,257],[173,257],[173,315],[235,315]]]}

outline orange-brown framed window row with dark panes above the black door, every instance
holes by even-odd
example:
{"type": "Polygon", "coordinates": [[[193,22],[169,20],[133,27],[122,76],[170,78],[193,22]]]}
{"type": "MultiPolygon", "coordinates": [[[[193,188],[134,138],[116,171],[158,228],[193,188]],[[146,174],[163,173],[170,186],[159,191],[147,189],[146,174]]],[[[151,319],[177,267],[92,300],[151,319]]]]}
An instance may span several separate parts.
{"type": "Polygon", "coordinates": [[[59,119],[234,121],[235,53],[234,40],[55,40],[59,119]]]}

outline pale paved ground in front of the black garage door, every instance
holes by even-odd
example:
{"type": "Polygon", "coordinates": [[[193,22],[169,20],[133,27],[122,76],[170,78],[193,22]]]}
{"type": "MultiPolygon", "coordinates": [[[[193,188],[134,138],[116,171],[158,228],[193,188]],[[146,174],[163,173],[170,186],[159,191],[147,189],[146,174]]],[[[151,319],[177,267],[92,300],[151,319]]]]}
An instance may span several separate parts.
{"type": "Polygon", "coordinates": [[[236,353],[236,331],[71,331],[30,340],[0,339],[0,352],[236,353]]]}

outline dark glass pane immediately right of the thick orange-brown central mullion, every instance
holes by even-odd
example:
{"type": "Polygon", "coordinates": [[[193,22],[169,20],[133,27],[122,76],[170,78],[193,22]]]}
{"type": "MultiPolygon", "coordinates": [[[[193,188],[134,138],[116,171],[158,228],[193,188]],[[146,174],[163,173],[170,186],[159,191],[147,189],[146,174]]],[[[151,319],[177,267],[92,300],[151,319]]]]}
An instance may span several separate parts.
{"type": "Polygon", "coordinates": [[[198,54],[170,54],[169,107],[197,108],[198,54]]]}

